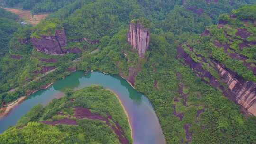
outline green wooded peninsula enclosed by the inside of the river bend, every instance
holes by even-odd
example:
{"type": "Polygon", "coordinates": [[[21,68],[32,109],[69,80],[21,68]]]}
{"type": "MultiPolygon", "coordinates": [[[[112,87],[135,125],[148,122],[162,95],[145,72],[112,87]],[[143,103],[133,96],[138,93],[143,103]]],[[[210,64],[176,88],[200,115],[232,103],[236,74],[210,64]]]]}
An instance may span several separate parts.
{"type": "Polygon", "coordinates": [[[128,119],[112,92],[101,86],[65,91],[66,96],[53,99],[46,107],[32,108],[0,135],[0,144],[119,144],[118,135],[104,118],[111,126],[121,126],[124,134],[119,135],[132,144],[128,119]],[[85,108],[92,114],[85,113],[85,108]],[[91,115],[99,119],[87,118],[91,115]]]}

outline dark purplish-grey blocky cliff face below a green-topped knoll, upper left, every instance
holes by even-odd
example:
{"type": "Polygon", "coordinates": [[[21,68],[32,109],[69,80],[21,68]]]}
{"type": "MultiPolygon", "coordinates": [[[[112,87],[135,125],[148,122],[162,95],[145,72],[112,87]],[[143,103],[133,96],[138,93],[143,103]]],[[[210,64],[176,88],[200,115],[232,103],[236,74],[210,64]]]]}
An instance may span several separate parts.
{"type": "Polygon", "coordinates": [[[37,51],[52,55],[65,54],[62,50],[62,47],[67,45],[67,38],[64,30],[56,30],[55,36],[40,36],[40,38],[32,37],[31,41],[37,51]]]}

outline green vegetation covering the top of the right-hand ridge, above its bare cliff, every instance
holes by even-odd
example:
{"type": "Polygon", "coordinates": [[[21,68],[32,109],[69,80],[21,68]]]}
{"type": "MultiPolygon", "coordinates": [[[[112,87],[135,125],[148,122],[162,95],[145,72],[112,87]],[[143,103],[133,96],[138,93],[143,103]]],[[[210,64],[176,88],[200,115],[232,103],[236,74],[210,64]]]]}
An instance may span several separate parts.
{"type": "Polygon", "coordinates": [[[206,27],[209,35],[190,39],[183,48],[193,60],[204,63],[205,69],[212,75],[217,72],[212,72],[211,65],[206,64],[210,59],[224,64],[244,79],[256,82],[256,47],[253,44],[256,39],[256,27],[254,22],[250,21],[256,19],[255,10],[256,5],[252,5],[234,10],[233,15],[236,18],[230,18],[227,14],[221,15],[219,24],[206,27]],[[189,47],[192,47],[193,51],[189,50],[189,47]]]}

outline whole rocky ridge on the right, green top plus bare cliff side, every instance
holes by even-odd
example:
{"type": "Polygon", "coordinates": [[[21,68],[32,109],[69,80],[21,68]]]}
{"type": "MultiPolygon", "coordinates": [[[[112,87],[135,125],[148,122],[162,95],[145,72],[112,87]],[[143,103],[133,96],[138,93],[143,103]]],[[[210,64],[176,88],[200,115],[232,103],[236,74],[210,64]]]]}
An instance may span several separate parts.
{"type": "Polygon", "coordinates": [[[178,54],[213,87],[256,116],[256,5],[223,14],[178,54]]]}

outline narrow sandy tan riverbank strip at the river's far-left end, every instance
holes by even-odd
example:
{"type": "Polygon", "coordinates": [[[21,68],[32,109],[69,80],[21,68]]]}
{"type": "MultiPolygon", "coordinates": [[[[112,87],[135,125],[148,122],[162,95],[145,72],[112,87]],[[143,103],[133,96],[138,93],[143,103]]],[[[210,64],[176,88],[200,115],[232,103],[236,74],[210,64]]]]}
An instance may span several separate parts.
{"type": "Polygon", "coordinates": [[[2,108],[0,109],[0,119],[5,117],[13,108],[15,108],[19,103],[21,103],[26,98],[27,96],[22,96],[22,97],[19,97],[14,102],[2,106],[2,108]]]}

